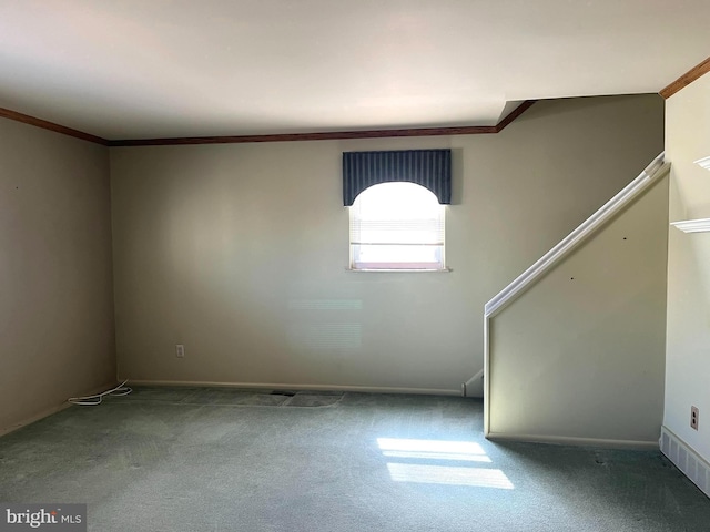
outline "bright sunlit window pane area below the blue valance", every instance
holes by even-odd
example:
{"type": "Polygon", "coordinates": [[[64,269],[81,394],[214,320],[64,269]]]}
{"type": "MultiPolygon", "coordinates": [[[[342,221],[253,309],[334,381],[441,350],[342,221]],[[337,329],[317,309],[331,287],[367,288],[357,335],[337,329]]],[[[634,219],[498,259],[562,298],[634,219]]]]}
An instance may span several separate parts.
{"type": "Polygon", "coordinates": [[[365,188],[351,209],[351,268],[440,270],[445,206],[422,185],[381,183],[365,188]]]}

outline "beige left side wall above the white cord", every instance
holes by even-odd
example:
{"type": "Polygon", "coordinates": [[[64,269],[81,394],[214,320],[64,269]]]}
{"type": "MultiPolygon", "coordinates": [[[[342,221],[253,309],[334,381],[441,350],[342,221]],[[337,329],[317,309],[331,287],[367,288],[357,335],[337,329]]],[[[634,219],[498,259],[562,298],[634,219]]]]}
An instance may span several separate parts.
{"type": "Polygon", "coordinates": [[[0,432],[115,381],[108,149],[0,119],[0,432]]]}

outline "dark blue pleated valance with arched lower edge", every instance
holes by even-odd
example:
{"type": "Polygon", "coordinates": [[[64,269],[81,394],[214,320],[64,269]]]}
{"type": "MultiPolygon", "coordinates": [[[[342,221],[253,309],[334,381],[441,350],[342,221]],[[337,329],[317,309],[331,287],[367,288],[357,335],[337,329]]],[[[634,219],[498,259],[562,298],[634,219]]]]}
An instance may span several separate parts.
{"type": "Polygon", "coordinates": [[[400,150],[343,153],[343,205],[351,206],[365,188],[406,181],[427,187],[443,205],[452,203],[452,151],[400,150]]]}

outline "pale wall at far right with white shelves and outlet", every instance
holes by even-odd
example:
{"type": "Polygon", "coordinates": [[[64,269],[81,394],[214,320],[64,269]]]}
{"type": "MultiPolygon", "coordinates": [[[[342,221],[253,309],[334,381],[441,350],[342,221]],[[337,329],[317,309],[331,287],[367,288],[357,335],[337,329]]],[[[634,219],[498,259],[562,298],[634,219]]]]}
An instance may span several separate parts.
{"type": "MultiPolygon", "coordinates": [[[[671,161],[670,219],[710,217],[710,75],[666,102],[666,155],[671,161]]],[[[710,461],[710,234],[669,228],[668,340],[663,424],[710,461]],[[700,409],[699,430],[690,407],[700,409]]],[[[708,484],[710,485],[710,483],[708,484]]]]}

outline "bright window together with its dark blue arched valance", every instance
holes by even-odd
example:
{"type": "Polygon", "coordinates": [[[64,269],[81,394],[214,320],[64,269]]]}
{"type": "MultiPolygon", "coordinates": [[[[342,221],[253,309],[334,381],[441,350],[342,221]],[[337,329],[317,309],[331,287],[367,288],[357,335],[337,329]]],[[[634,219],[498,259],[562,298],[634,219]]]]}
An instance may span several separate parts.
{"type": "Polygon", "coordinates": [[[443,270],[450,150],[343,153],[351,268],[443,270]]]}

